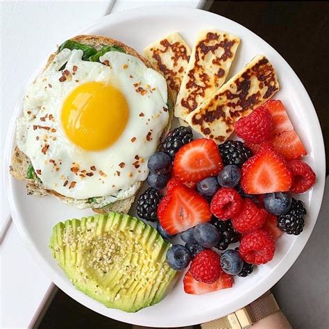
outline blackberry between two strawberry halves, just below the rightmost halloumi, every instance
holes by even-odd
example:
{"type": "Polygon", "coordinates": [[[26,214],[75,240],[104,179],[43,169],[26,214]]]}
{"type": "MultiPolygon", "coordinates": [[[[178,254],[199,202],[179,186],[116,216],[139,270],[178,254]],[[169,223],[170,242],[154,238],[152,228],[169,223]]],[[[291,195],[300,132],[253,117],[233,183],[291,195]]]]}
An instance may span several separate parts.
{"type": "Polygon", "coordinates": [[[248,149],[244,143],[239,140],[227,140],[225,143],[219,145],[221,158],[224,165],[236,165],[242,167],[244,162],[253,155],[251,149],[248,149]]]}

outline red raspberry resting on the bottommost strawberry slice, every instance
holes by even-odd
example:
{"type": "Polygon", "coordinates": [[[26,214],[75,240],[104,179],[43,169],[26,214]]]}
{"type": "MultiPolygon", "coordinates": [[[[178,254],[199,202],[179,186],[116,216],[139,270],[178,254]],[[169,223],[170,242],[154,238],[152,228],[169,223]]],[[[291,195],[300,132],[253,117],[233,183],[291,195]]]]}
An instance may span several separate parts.
{"type": "Polygon", "coordinates": [[[219,255],[210,249],[200,251],[192,260],[191,273],[199,282],[212,283],[222,271],[219,255]]]}

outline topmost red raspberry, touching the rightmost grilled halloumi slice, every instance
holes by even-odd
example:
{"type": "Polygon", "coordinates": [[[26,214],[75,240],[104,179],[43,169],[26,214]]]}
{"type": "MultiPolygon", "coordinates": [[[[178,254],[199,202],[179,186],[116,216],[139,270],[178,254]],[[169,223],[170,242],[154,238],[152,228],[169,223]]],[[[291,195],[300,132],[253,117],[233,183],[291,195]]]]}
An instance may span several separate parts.
{"type": "Polygon", "coordinates": [[[272,116],[269,111],[260,106],[248,117],[235,122],[235,133],[248,143],[260,144],[271,137],[272,116]]]}

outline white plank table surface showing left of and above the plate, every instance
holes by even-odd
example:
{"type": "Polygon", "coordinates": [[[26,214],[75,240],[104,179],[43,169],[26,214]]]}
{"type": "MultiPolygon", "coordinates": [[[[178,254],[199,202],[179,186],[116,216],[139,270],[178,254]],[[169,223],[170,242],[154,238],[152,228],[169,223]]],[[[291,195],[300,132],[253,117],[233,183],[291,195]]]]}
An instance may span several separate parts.
{"type": "Polygon", "coordinates": [[[0,328],[30,328],[53,284],[24,248],[3,188],[3,145],[10,114],[35,67],[83,26],[110,12],[140,6],[203,8],[212,1],[1,1],[0,328]],[[205,3],[207,2],[207,3],[205,3]]]}

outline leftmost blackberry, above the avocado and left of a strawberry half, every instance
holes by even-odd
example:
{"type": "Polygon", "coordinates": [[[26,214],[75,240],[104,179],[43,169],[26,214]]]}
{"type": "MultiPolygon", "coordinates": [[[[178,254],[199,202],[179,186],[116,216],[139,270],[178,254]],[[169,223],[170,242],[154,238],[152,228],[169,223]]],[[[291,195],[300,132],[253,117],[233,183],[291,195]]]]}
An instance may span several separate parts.
{"type": "Polygon", "coordinates": [[[162,195],[156,189],[149,187],[140,195],[137,200],[137,215],[146,219],[146,221],[156,221],[158,205],[162,199],[162,195]]]}

